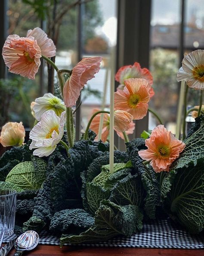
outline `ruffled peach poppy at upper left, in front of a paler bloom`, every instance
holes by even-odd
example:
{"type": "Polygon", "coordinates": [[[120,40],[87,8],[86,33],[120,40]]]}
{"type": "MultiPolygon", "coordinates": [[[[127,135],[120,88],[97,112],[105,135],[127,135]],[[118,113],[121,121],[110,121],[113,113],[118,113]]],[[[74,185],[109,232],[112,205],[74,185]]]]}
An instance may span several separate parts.
{"type": "Polygon", "coordinates": [[[34,79],[40,67],[41,50],[34,37],[9,35],[3,45],[3,59],[9,72],[34,79]]]}

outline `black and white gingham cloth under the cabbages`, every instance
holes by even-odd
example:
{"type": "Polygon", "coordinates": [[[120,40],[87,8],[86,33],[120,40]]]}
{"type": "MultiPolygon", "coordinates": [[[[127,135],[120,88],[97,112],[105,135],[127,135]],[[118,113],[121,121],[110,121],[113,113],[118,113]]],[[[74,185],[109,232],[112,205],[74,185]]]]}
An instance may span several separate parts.
{"type": "MultiPolygon", "coordinates": [[[[15,237],[5,237],[4,243],[15,237]]],[[[46,231],[40,233],[40,244],[59,245],[59,237],[46,231]]],[[[96,247],[128,247],[128,248],[204,248],[204,233],[193,235],[173,223],[170,219],[151,221],[144,224],[142,231],[131,237],[117,237],[105,242],[80,244],[96,247]]]]}

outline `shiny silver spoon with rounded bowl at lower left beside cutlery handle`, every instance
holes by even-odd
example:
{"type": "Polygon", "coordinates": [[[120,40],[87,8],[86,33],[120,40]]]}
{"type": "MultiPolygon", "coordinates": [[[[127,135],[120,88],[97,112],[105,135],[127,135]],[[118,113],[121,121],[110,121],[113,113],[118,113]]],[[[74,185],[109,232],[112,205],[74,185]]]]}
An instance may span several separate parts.
{"type": "Polygon", "coordinates": [[[35,231],[29,230],[20,235],[15,241],[17,250],[13,256],[21,256],[24,251],[33,250],[39,243],[39,236],[35,231]]]}

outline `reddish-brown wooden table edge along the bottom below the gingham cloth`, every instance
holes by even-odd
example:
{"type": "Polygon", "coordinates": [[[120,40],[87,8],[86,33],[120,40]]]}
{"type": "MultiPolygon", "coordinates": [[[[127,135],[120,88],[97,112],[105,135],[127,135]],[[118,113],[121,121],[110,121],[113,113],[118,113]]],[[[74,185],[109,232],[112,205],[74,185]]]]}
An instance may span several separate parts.
{"type": "MultiPolygon", "coordinates": [[[[13,249],[8,256],[15,253],[13,249]]],[[[25,252],[29,256],[204,256],[201,249],[148,249],[148,248],[110,248],[110,247],[80,247],[57,245],[38,245],[36,249],[25,252]]]]}

